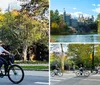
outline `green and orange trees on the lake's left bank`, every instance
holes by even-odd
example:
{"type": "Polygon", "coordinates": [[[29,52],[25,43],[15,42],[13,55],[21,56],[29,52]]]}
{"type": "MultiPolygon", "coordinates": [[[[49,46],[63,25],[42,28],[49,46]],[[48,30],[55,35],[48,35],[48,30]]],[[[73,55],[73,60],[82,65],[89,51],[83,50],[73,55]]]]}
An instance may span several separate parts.
{"type": "Polygon", "coordinates": [[[63,15],[59,13],[58,10],[50,11],[50,27],[51,34],[67,34],[68,33],[68,25],[63,20],[63,15]],[[55,24],[55,25],[54,25],[55,24]],[[56,29],[54,29],[56,26],[56,29]]]}

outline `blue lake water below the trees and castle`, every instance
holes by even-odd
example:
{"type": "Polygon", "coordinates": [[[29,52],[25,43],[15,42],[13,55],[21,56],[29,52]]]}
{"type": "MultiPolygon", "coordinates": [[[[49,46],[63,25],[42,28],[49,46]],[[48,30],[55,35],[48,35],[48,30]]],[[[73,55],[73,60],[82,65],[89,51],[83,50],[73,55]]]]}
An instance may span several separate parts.
{"type": "Polygon", "coordinates": [[[100,42],[100,34],[51,35],[51,42],[100,42]]]}

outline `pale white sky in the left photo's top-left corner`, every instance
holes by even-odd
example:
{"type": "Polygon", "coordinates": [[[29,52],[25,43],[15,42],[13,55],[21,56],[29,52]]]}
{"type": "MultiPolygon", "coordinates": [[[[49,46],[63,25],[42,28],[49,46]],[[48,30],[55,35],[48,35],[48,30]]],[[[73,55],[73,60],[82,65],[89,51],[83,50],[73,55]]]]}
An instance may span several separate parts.
{"type": "Polygon", "coordinates": [[[2,9],[2,12],[5,12],[9,5],[10,9],[21,8],[19,0],[0,0],[0,8],[2,9]]]}

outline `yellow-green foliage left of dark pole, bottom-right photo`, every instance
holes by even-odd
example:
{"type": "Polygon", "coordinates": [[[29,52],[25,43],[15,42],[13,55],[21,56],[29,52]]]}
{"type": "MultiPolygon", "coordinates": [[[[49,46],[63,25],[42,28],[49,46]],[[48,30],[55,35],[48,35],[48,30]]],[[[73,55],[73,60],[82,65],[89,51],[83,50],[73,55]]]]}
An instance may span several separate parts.
{"type": "Polygon", "coordinates": [[[92,45],[89,44],[73,44],[68,45],[68,53],[73,56],[73,60],[77,65],[91,65],[90,54],[93,52],[92,45]]]}

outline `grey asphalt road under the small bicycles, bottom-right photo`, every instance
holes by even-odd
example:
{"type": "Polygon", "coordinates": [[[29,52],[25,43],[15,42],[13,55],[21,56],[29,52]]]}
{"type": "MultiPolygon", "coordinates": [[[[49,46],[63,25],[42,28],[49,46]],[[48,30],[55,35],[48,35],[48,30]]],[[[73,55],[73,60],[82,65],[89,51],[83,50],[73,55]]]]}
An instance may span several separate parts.
{"type": "Polygon", "coordinates": [[[63,77],[51,77],[50,85],[100,85],[100,74],[76,77],[74,73],[64,73],[63,77]]]}

